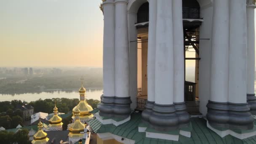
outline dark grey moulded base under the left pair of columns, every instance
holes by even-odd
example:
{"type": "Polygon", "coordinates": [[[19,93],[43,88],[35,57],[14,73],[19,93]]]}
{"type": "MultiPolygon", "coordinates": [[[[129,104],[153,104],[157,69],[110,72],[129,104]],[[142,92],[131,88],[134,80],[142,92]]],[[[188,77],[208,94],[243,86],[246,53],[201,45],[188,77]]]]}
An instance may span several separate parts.
{"type": "Polygon", "coordinates": [[[102,96],[99,106],[99,115],[101,117],[126,119],[131,114],[131,98],[117,96],[102,96]]]}

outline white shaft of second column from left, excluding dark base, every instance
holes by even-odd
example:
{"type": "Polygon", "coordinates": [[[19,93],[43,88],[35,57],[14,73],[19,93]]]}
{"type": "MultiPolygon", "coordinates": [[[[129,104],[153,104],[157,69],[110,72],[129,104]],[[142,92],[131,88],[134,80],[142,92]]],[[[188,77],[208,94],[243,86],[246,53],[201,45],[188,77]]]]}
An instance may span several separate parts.
{"type": "Polygon", "coordinates": [[[115,0],[115,96],[129,96],[127,0],[115,0]]]}

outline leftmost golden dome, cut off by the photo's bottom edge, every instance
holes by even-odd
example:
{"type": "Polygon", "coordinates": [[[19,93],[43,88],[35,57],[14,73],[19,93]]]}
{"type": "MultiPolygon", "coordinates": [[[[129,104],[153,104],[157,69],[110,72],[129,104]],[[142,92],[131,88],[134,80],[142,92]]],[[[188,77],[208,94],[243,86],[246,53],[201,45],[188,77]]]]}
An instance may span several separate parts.
{"type": "Polygon", "coordinates": [[[39,121],[38,123],[38,131],[35,133],[34,140],[31,142],[32,144],[46,144],[49,141],[49,138],[47,137],[47,133],[43,131],[43,123],[39,121]]]}

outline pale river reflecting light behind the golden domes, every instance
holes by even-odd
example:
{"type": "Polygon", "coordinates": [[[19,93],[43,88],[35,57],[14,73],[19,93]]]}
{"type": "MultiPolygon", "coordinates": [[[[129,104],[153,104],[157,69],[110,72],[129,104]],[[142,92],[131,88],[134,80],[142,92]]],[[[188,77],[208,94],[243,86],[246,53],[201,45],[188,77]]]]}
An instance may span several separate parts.
{"type": "MultiPolygon", "coordinates": [[[[87,99],[100,100],[103,89],[87,89],[87,99]]],[[[78,91],[43,91],[41,93],[24,93],[24,94],[0,94],[0,101],[25,100],[27,102],[36,101],[37,99],[52,99],[52,98],[68,98],[80,99],[78,91]]]]}

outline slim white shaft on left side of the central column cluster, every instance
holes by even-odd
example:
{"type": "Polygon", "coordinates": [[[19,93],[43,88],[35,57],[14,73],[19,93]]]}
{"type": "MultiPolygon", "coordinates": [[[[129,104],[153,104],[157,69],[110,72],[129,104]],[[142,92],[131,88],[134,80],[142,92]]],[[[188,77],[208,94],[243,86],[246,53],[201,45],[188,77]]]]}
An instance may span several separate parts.
{"type": "Polygon", "coordinates": [[[156,50],[157,0],[149,2],[149,38],[147,50],[147,100],[155,101],[155,50],[156,50]]]}

